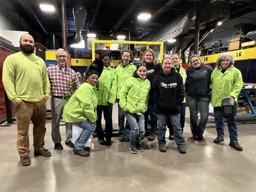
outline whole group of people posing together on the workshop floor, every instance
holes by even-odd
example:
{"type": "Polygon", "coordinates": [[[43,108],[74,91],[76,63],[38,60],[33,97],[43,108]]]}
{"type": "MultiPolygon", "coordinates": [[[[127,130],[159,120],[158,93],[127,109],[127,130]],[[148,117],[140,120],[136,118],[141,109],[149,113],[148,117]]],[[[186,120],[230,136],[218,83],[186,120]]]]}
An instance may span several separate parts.
{"type": "MultiPolygon", "coordinates": [[[[66,66],[67,53],[56,51],[58,65],[47,67],[34,52],[34,39],[29,34],[20,37],[21,52],[8,56],[3,65],[3,85],[9,99],[15,104],[17,122],[17,150],[22,165],[30,165],[29,123],[33,123],[34,155],[51,156],[44,148],[46,101],[51,94],[52,141],[55,150],[62,150],[59,122],[63,115],[66,122],[65,144],[74,154],[90,155],[85,147],[93,131],[98,133],[98,142],[111,145],[112,108],[118,102],[119,141],[130,142],[134,154],[144,151],[140,140],[144,138],[150,116],[150,136],[157,136],[159,151],[166,152],[165,133],[175,140],[180,153],[185,154],[183,128],[186,101],[190,110],[190,128],[194,140],[202,140],[208,120],[208,105],[212,99],[217,137],[214,143],[224,140],[224,123],[221,113],[223,98],[237,96],[243,86],[241,72],[234,65],[232,54],[219,56],[216,67],[201,62],[197,55],[190,57],[191,66],[184,69],[179,55],[163,58],[158,63],[152,49],[147,49],[143,62],[133,64],[133,52],[122,52],[122,62],[116,69],[110,66],[112,57],[101,55],[103,70],[88,70],[79,80],[76,72],[66,66]],[[212,84],[210,97],[209,84],[212,84]],[[73,93],[73,90],[76,90],[73,93]],[[186,93],[186,100],[185,100],[186,93]],[[198,122],[198,111],[200,121],[198,122]],[[105,134],[102,128],[102,113],[105,119],[105,134]],[[125,122],[125,118],[127,122],[125,122]],[[72,143],[72,123],[83,131],[72,143]],[[158,127],[158,133],[157,133],[158,127]],[[156,134],[157,133],[157,134],[156,134]]],[[[227,119],[230,146],[243,150],[237,140],[236,118],[227,119]]]]}

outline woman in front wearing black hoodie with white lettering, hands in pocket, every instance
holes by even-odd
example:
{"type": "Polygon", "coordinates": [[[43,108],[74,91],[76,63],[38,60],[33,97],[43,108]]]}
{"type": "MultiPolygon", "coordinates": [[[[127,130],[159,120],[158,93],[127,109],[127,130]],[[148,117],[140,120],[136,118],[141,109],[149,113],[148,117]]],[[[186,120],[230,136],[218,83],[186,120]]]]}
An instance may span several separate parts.
{"type": "Polygon", "coordinates": [[[159,151],[166,152],[166,125],[172,123],[174,138],[180,153],[185,154],[185,139],[180,127],[180,104],[184,99],[182,76],[172,67],[170,58],[163,58],[162,68],[153,80],[152,95],[157,103],[159,151]]]}

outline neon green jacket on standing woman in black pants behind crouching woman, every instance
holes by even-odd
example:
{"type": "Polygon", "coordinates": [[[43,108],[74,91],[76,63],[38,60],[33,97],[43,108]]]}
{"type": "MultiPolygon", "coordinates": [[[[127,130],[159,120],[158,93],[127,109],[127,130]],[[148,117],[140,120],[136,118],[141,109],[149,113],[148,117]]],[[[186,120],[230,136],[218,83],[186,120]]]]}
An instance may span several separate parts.
{"type": "Polygon", "coordinates": [[[99,77],[99,91],[97,91],[98,105],[108,106],[108,102],[115,104],[118,91],[116,71],[111,67],[104,67],[99,77]]]}

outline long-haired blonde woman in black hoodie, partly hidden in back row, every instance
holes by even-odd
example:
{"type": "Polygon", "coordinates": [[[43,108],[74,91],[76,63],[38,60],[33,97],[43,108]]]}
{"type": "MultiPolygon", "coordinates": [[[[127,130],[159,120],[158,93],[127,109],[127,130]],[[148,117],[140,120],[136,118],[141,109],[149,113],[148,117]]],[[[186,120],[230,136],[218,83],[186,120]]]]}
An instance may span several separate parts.
{"type": "MultiPolygon", "coordinates": [[[[158,72],[162,70],[161,63],[158,63],[157,59],[155,59],[154,51],[152,49],[147,49],[143,55],[143,63],[147,69],[147,79],[150,81],[151,87],[152,82],[155,76],[157,76],[158,72]]],[[[155,140],[155,135],[157,132],[157,105],[152,97],[152,93],[150,91],[150,99],[148,100],[148,110],[144,113],[145,119],[145,130],[148,127],[148,116],[150,116],[150,136],[148,137],[149,141],[155,140]]]]}

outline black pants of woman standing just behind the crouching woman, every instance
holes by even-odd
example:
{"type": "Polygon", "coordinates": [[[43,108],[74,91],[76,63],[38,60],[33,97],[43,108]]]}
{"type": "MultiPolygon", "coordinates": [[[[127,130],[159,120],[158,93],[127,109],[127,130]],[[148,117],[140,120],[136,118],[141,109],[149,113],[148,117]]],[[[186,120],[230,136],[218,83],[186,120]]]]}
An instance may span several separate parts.
{"type": "Polygon", "coordinates": [[[96,123],[97,123],[96,132],[98,133],[99,140],[104,140],[104,130],[102,129],[102,125],[101,125],[102,111],[103,111],[104,119],[106,122],[106,124],[105,124],[106,141],[111,141],[112,132],[113,132],[112,109],[113,109],[112,105],[111,106],[104,106],[104,105],[97,106],[98,119],[96,121],[96,123]]]}

